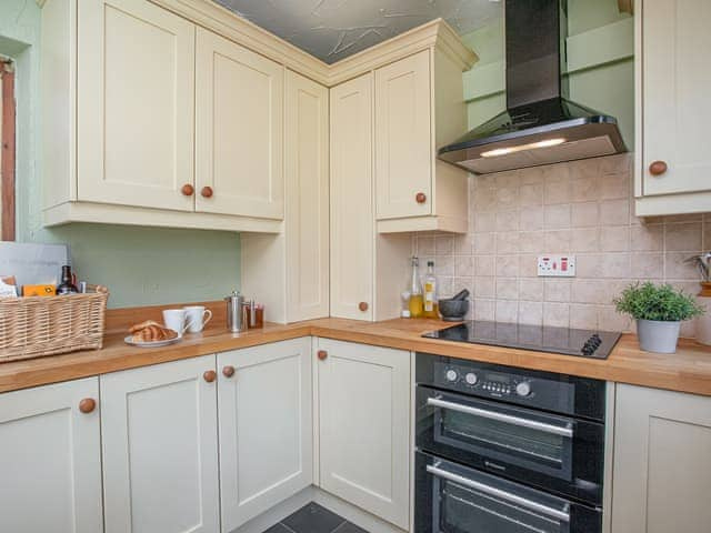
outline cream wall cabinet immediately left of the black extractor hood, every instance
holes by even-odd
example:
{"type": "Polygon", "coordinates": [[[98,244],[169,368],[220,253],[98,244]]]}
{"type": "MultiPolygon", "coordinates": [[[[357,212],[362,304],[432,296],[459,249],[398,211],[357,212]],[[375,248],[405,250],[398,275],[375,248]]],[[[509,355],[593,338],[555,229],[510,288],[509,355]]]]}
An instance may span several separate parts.
{"type": "Polygon", "coordinates": [[[379,232],[468,231],[468,173],[437,159],[467,131],[463,68],[430,48],[375,69],[379,232]]]}

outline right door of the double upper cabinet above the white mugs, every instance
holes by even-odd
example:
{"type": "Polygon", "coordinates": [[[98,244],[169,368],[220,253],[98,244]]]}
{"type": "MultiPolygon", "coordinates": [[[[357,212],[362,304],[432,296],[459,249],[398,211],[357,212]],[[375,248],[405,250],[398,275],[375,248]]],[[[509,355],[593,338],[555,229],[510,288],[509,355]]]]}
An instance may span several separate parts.
{"type": "Polygon", "coordinates": [[[283,68],[203,29],[197,42],[196,209],[283,219],[283,68]]]}

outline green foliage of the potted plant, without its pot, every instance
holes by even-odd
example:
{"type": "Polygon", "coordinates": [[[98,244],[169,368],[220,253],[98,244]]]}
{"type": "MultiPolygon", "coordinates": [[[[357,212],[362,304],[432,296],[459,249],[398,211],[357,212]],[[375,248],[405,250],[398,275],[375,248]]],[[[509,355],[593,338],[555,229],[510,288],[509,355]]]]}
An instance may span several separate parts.
{"type": "Polygon", "coordinates": [[[613,302],[619,312],[637,320],[677,322],[703,314],[703,308],[691,294],[677,291],[669,284],[655,285],[649,281],[628,286],[613,302]]]}

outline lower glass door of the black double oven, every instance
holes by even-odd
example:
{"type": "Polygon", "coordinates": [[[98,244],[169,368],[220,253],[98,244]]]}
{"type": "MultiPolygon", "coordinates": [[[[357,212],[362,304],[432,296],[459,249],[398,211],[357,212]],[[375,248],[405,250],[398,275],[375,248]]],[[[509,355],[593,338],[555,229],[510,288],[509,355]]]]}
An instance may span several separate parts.
{"type": "Polygon", "coordinates": [[[415,533],[599,533],[600,510],[417,454],[415,533]]]}

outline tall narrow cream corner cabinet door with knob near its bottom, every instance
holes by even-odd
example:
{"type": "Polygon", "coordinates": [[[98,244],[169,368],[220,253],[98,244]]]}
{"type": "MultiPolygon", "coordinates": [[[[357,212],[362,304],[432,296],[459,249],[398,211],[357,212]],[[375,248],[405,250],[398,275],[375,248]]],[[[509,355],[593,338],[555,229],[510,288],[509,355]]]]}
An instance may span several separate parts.
{"type": "Polygon", "coordinates": [[[343,319],[372,320],[372,81],[331,89],[331,315],[343,319]]]}

